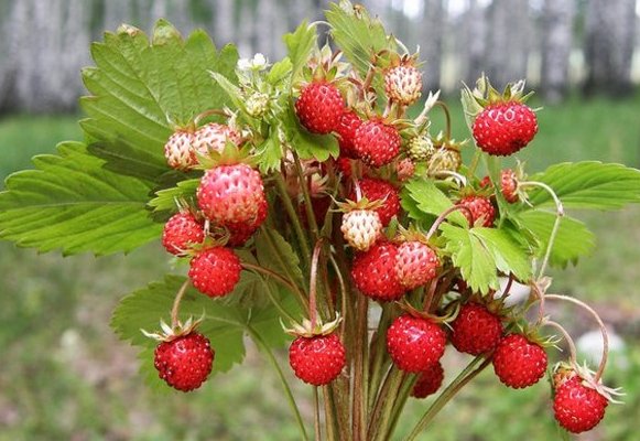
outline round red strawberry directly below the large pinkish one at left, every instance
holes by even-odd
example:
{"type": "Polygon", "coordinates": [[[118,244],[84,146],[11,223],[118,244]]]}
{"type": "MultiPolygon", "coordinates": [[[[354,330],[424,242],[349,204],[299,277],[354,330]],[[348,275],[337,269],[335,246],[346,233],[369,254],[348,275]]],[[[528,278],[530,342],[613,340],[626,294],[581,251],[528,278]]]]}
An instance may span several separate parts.
{"type": "Polygon", "coordinates": [[[241,270],[240,259],[232,249],[211,247],[191,260],[188,277],[203,294],[223,297],[234,291],[241,270]]]}

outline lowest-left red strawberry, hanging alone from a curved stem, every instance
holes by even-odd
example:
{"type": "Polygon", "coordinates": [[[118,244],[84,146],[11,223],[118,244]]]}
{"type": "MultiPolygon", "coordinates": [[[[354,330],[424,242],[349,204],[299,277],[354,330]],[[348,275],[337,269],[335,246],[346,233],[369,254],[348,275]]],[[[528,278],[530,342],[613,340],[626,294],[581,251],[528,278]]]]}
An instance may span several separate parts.
{"type": "Polygon", "coordinates": [[[197,332],[162,342],[155,347],[154,366],[160,378],[171,387],[189,391],[207,379],[215,352],[209,341],[197,332]]]}

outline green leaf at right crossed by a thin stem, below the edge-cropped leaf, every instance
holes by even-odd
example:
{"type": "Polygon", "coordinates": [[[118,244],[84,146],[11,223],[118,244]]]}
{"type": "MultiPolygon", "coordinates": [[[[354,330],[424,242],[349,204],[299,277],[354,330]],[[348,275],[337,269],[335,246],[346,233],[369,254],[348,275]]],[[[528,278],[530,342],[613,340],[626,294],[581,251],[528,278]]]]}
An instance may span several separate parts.
{"type": "MultiPolygon", "coordinates": [[[[544,256],[555,217],[555,213],[535,209],[522,212],[516,218],[520,227],[529,229],[535,237],[538,257],[544,256]]],[[[556,267],[576,263],[579,257],[593,252],[595,241],[596,237],[585,224],[565,215],[560,223],[550,263],[556,267]]]]}

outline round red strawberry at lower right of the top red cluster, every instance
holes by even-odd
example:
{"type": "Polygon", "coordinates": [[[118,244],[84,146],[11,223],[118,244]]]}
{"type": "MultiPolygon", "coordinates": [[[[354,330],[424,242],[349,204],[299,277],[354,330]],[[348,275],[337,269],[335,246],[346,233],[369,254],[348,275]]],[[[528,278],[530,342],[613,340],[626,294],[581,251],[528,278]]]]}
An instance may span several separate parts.
{"type": "Polygon", "coordinates": [[[372,119],[362,122],[356,130],[354,150],[365,163],[382,166],[398,155],[401,142],[402,139],[393,126],[372,119]]]}

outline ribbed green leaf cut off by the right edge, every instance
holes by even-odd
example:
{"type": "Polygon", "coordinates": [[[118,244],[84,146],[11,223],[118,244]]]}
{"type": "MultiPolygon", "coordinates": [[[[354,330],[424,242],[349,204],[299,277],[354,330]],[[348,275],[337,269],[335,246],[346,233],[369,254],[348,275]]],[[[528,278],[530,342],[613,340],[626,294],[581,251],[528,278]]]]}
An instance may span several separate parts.
{"type": "MultiPolygon", "coordinates": [[[[640,171],[621,164],[565,162],[531,176],[531,181],[551,186],[568,208],[616,209],[640,203],[640,171]]],[[[532,189],[529,202],[534,206],[554,205],[543,189],[532,189]]]]}

